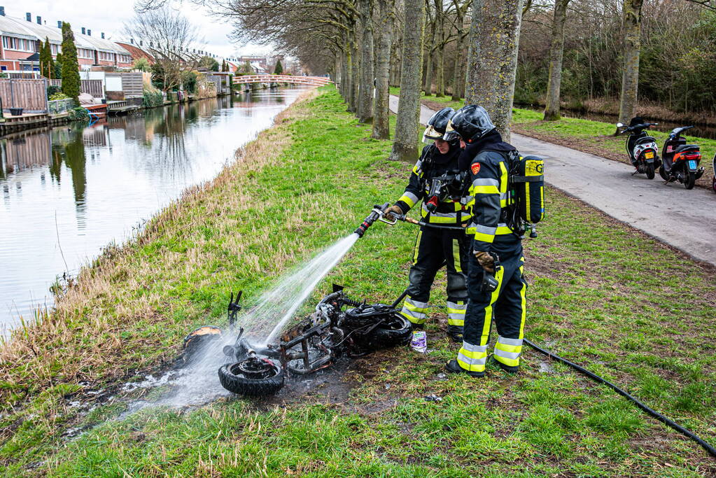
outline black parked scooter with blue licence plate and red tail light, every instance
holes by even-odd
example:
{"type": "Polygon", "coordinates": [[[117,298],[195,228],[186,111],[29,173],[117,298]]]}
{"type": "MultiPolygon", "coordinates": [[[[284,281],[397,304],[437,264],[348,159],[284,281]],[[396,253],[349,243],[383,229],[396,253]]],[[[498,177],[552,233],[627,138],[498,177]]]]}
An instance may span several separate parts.
{"type": "Polygon", "coordinates": [[[692,189],[697,179],[704,174],[699,167],[701,150],[699,145],[687,145],[681,134],[693,126],[674,128],[664,142],[664,163],[659,175],[666,182],[679,181],[687,189],[692,189]]]}

